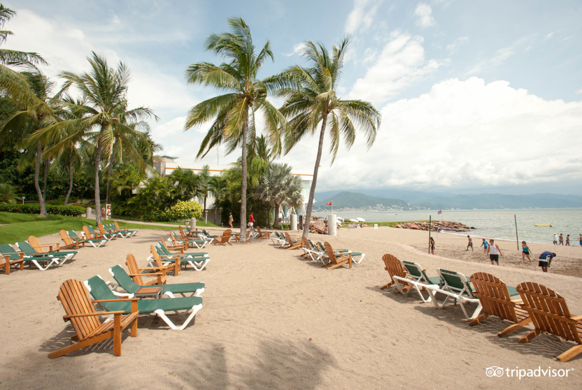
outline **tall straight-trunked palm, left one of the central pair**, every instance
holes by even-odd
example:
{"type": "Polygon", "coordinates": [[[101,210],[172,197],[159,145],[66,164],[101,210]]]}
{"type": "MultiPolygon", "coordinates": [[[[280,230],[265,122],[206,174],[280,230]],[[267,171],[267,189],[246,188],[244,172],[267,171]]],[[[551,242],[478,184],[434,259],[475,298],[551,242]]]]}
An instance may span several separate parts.
{"type": "Polygon", "coordinates": [[[267,137],[275,147],[281,144],[280,130],[287,131],[288,123],[278,109],[267,101],[267,88],[258,79],[258,71],[266,59],[274,60],[271,43],[267,41],[256,53],[249,26],[240,17],[227,19],[230,33],[211,34],[206,49],[222,56],[227,62],[214,65],[199,62],[186,70],[186,82],[214,87],[227,92],[199,103],[187,115],[186,130],[212,120],[197,157],[206,155],[214,146],[226,144],[227,154],[239,145],[242,149],[242,186],[240,237],[246,237],[247,209],[247,144],[254,144],[255,112],[265,119],[267,137]]]}

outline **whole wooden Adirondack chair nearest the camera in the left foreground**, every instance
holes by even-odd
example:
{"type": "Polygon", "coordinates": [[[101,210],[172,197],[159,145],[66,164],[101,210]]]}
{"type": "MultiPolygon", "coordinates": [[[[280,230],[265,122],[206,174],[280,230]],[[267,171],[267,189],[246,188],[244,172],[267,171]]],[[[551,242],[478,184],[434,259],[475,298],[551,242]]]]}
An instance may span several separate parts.
{"type": "Polygon", "coordinates": [[[70,321],[73,325],[76,336],[73,341],[79,341],[76,344],[66,346],[51,352],[48,357],[59,357],[73,352],[77,349],[96,344],[108,338],[113,338],[113,355],[121,356],[121,332],[128,326],[130,336],[137,336],[137,301],[138,298],[132,299],[104,299],[93,300],[82,282],[69,279],[61,285],[59,295],[56,297],[61,301],[66,315],[63,320],[70,321]],[[132,312],[123,315],[123,311],[118,312],[97,312],[93,303],[113,302],[118,300],[132,301],[132,312]],[[98,316],[113,314],[113,321],[101,323],[98,316]]]}

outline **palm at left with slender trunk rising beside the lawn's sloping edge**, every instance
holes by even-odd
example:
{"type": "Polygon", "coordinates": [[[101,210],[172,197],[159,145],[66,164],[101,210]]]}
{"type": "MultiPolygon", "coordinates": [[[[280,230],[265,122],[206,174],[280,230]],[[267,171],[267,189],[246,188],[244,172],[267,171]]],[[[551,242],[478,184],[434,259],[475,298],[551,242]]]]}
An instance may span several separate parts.
{"type": "MultiPolygon", "coordinates": [[[[38,133],[50,136],[59,127],[69,126],[75,121],[79,126],[76,128],[79,132],[94,139],[94,172],[95,172],[95,220],[101,223],[101,197],[99,186],[99,170],[101,167],[101,153],[109,158],[112,153],[115,133],[113,127],[124,128],[126,131],[133,131],[136,138],[143,138],[139,131],[127,126],[126,123],[132,121],[142,121],[154,115],[152,110],[147,107],[127,108],[127,85],[129,83],[130,71],[123,62],[119,62],[116,69],[110,67],[107,59],[95,52],[87,57],[91,70],[87,73],[75,74],[69,71],[61,73],[61,77],[72,83],[86,101],[84,105],[65,103],[71,112],[81,117],[81,119],[72,119],[61,123],[52,124],[40,130],[38,133]],[[94,129],[94,131],[93,131],[94,129]],[[90,131],[88,131],[90,130],[90,131]]],[[[70,137],[77,137],[78,134],[71,134],[70,137]]],[[[65,142],[63,140],[62,142],[65,142]]],[[[107,158],[107,160],[108,160],[107,158]]]]}

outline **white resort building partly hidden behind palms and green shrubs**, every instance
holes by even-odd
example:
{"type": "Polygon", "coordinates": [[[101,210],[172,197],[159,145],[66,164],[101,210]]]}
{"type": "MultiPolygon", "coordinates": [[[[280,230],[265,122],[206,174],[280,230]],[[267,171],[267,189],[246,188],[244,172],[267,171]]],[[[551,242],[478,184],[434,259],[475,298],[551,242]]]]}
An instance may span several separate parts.
{"type": "MultiPolygon", "coordinates": [[[[171,174],[173,170],[180,167],[182,169],[187,169],[194,171],[195,173],[199,173],[204,169],[204,166],[207,164],[193,164],[192,166],[179,166],[176,162],[178,157],[171,157],[171,156],[159,156],[158,158],[154,158],[154,169],[161,175],[166,176],[171,174]]],[[[210,165],[208,164],[208,170],[210,171],[210,176],[219,176],[222,171],[226,171],[230,169],[229,165],[210,165]]],[[[307,201],[309,199],[309,191],[311,189],[311,182],[313,181],[313,174],[303,174],[303,173],[293,173],[296,176],[300,176],[303,181],[303,206],[301,210],[297,210],[298,215],[305,215],[307,209],[307,201]]],[[[197,201],[200,201],[197,199],[197,201]]],[[[212,223],[217,225],[221,224],[222,213],[221,210],[215,212],[212,210],[214,207],[214,198],[208,196],[206,199],[206,209],[208,212],[208,220],[212,223]]],[[[289,217],[289,207],[287,205],[283,205],[281,207],[282,217],[283,219],[287,219],[289,217]]]]}

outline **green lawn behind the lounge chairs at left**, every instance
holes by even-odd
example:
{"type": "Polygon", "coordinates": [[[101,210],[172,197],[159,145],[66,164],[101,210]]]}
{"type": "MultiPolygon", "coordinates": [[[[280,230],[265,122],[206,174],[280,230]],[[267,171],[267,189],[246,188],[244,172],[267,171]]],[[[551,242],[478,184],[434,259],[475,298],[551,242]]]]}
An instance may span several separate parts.
{"type": "MultiPolygon", "coordinates": [[[[58,233],[61,230],[81,231],[83,225],[95,227],[95,221],[84,217],[63,217],[51,215],[41,217],[37,214],[3,213],[0,212],[0,244],[14,244],[29,238],[29,235],[40,237],[41,235],[58,233]]],[[[171,223],[176,226],[179,223],[171,223]]],[[[142,225],[137,223],[120,223],[119,226],[127,226],[132,229],[162,229],[174,230],[172,226],[142,225]]],[[[203,226],[197,223],[197,226],[203,226]]],[[[208,224],[205,226],[216,226],[208,224]]]]}

